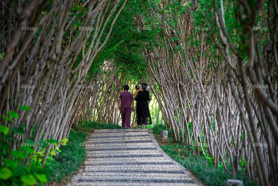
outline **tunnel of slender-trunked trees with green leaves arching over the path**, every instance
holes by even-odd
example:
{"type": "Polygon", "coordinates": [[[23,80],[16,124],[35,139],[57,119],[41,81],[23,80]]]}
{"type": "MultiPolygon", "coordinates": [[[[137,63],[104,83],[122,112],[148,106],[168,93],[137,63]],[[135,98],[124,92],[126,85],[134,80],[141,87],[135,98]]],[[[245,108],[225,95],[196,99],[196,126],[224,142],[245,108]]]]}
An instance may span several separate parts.
{"type": "Polygon", "coordinates": [[[46,182],[70,129],[118,123],[122,85],[146,82],[176,142],[277,185],[277,1],[2,0],[0,12],[1,184],[17,169],[46,182]]]}

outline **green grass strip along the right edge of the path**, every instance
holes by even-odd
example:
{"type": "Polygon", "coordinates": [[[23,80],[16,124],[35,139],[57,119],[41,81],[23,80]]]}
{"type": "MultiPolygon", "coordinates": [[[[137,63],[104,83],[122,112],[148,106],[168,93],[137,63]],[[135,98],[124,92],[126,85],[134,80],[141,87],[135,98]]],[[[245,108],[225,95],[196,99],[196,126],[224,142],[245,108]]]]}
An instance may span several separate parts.
{"type": "Polygon", "coordinates": [[[174,142],[171,132],[168,131],[166,142],[159,140],[160,130],[166,130],[164,126],[153,127],[153,135],[157,139],[161,149],[173,160],[189,169],[197,178],[208,186],[225,186],[227,179],[242,180],[244,186],[255,186],[253,181],[245,175],[244,169],[235,176],[229,174],[223,167],[213,166],[211,160],[204,156],[194,155],[194,148],[174,142]],[[193,148],[193,149],[192,149],[193,148]]]}

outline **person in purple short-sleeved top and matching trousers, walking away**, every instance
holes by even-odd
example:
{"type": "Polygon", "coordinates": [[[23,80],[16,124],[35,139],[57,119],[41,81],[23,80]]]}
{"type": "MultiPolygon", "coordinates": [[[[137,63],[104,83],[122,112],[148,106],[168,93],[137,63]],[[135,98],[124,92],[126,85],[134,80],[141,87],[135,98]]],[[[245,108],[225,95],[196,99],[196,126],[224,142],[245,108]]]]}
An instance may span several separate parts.
{"type": "Polygon", "coordinates": [[[121,112],[122,116],[122,129],[124,129],[125,127],[130,127],[131,111],[134,111],[134,98],[133,95],[128,91],[129,86],[124,85],[123,88],[124,91],[120,93],[118,99],[119,111],[121,112]]]}

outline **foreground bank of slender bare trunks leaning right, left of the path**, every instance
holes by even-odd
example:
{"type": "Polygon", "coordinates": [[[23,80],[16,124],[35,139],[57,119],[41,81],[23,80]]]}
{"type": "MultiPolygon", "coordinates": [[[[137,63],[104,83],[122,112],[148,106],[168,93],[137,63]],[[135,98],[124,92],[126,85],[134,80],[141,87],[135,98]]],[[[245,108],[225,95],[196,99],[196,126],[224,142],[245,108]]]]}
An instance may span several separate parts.
{"type": "MultiPolygon", "coordinates": [[[[11,130],[25,125],[24,134],[14,134],[10,150],[26,139],[38,143],[67,137],[75,101],[83,93],[79,87],[126,3],[48,2],[2,3],[6,19],[1,21],[5,25],[1,45],[6,48],[1,60],[0,112],[8,117],[14,111],[18,117],[14,122],[2,117],[1,124],[11,130]],[[15,20],[9,18],[10,11],[15,20]]],[[[49,144],[36,149],[43,151],[42,166],[52,148],[49,144]]]]}

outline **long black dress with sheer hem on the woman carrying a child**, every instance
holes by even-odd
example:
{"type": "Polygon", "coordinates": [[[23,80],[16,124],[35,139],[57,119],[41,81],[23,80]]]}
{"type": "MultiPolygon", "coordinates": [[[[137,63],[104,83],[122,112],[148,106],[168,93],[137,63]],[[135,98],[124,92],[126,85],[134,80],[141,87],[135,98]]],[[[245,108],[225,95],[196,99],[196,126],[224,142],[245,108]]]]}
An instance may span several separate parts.
{"type": "Polygon", "coordinates": [[[139,91],[136,98],[136,117],[137,124],[151,124],[151,114],[149,110],[148,101],[150,100],[149,91],[139,91]]]}

